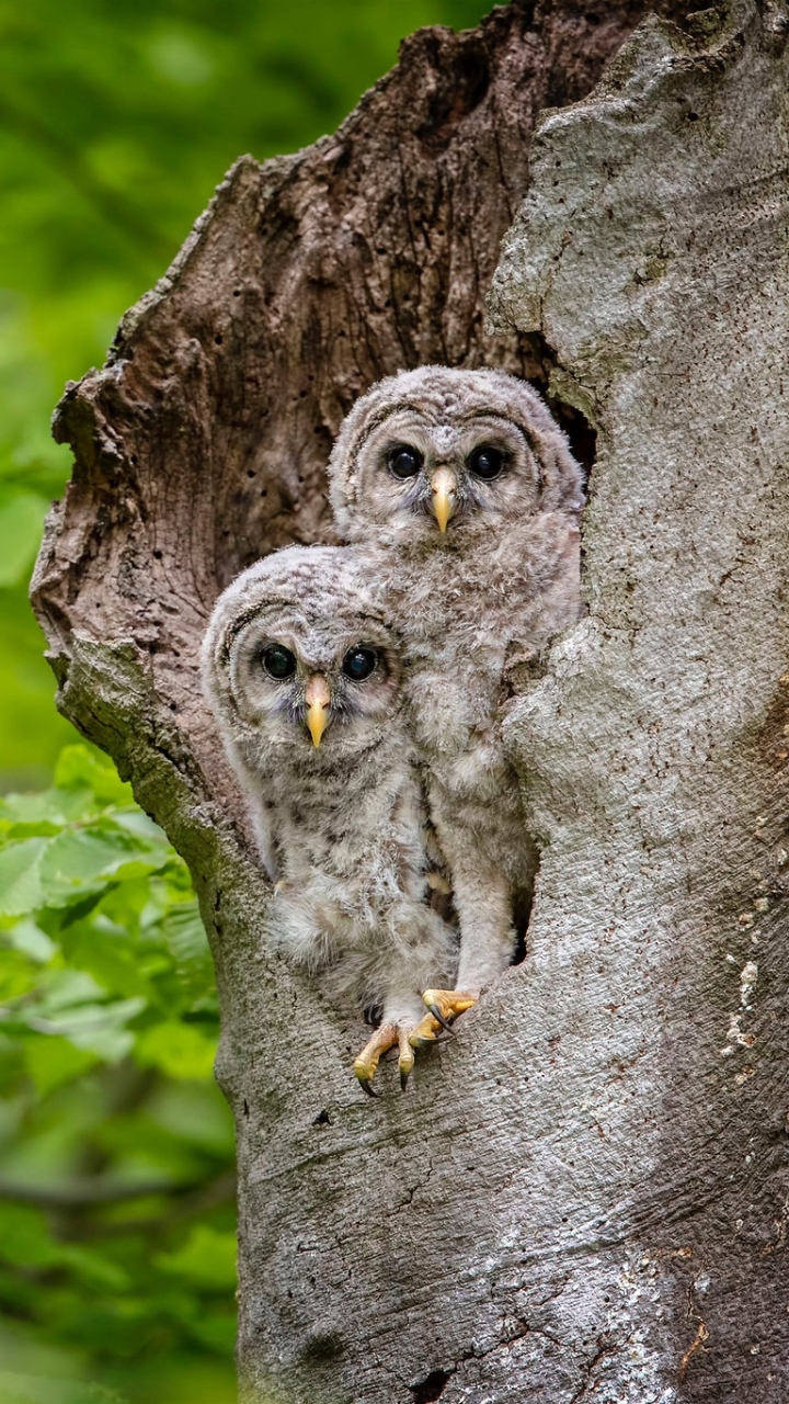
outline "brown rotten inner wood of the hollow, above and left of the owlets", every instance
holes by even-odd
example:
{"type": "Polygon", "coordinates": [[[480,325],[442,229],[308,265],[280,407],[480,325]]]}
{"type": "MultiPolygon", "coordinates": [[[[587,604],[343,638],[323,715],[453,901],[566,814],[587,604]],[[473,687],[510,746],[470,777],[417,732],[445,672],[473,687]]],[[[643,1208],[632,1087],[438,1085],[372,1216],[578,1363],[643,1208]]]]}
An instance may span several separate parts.
{"type": "Polygon", "coordinates": [[[642,10],[515,3],[413,35],[336,136],[233,167],[108,368],[66,392],[74,476],[35,608],[63,657],[74,632],[136,643],[213,793],[194,668],[218,588],[274,546],[330,539],[329,448],[379,376],[441,361],[545,378],[539,340],[484,336],[498,243],[538,112],[587,93],[642,10]]]}

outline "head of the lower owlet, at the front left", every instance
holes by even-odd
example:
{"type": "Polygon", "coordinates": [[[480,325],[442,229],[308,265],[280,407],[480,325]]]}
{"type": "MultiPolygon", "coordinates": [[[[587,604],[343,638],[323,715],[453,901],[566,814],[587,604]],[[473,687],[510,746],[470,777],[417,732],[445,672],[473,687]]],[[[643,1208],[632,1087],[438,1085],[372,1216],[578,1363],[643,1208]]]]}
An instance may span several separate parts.
{"type": "Polygon", "coordinates": [[[220,595],[202,649],[204,688],[223,736],[331,764],[376,744],[402,703],[393,632],[351,552],[288,546],[220,595]]]}

